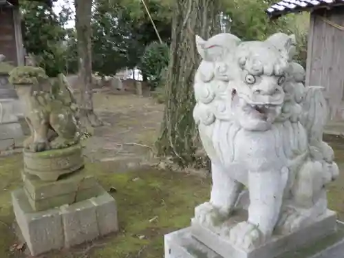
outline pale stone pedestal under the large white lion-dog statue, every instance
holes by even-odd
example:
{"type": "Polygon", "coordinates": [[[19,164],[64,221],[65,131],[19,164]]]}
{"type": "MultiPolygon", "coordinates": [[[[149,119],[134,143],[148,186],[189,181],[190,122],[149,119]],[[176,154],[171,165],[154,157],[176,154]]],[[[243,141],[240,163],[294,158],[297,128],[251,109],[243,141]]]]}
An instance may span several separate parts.
{"type": "MultiPolygon", "coordinates": [[[[241,221],[245,217],[237,219],[241,221]]],[[[191,227],[167,234],[164,239],[165,258],[336,258],[327,254],[330,254],[331,246],[337,245],[336,248],[342,248],[342,255],[344,226],[336,222],[336,213],[327,211],[316,222],[295,233],[275,234],[262,246],[242,250],[215,228],[206,228],[192,219],[191,227]]]]}

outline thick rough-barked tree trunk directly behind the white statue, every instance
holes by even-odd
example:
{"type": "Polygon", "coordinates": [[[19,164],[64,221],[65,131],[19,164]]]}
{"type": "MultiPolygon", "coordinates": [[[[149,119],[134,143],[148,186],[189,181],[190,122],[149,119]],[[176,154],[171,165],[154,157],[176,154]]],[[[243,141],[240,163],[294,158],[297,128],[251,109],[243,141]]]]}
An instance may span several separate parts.
{"type": "Polygon", "coordinates": [[[182,167],[199,165],[200,139],[193,121],[193,79],[200,64],[195,35],[208,39],[219,32],[219,8],[219,0],[176,0],[173,10],[167,98],[157,147],[158,155],[182,167]]]}

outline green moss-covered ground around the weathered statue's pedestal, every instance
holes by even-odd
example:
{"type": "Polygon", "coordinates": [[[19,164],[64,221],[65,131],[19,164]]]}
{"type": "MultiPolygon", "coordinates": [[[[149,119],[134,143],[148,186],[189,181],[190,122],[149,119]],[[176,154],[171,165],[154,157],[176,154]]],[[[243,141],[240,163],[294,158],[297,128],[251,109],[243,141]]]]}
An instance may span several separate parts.
{"type": "MultiPolygon", "coordinates": [[[[10,192],[22,185],[21,160],[21,155],[0,159],[1,258],[25,257],[19,250],[10,250],[13,244],[19,244],[12,229],[10,192]]],[[[112,188],[120,232],[45,258],[160,258],[163,235],[188,226],[193,208],[208,198],[209,180],[193,175],[153,169],[115,173],[112,162],[90,163],[86,168],[105,189],[112,188]]]]}

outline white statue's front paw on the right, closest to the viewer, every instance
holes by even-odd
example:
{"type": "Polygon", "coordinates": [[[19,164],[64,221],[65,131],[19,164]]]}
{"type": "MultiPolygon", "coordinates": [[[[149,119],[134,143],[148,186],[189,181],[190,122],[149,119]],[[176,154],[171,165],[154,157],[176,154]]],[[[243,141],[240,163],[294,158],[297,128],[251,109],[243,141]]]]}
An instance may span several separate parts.
{"type": "Polygon", "coordinates": [[[240,222],[230,229],[229,240],[235,246],[250,250],[263,244],[265,237],[256,225],[240,222]]]}

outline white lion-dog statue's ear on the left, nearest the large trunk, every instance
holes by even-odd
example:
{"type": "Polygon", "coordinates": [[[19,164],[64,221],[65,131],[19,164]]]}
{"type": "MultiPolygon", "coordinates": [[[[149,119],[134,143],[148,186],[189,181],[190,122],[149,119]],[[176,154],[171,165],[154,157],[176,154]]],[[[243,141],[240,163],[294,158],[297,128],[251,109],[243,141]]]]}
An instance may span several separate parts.
{"type": "Polygon", "coordinates": [[[240,42],[237,36],[230,33],[217,34],[208,41],[196,35],[197,51],[204,61],[208,62],[223,61],[230,52],[235,50],[240,42]]]}

